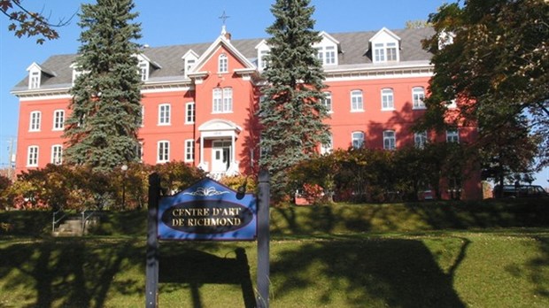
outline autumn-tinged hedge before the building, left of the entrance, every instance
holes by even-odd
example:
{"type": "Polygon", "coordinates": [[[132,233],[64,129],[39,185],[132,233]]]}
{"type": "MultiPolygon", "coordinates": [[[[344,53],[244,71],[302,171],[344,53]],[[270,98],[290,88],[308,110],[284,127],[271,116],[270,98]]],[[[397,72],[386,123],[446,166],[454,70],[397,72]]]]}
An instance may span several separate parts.
{"type": "Polygon", "coordinates": [[[176,192],[202,179],[204,173],[183,162],[159,166],[130,164],[110,172],[89,166],[47,165],[21,173],[17,181],[0,191],[3,208],[52,210],[128,210],[144,208],[148,196],[148,176],[157,172],[161,187],[176,192]],[[4,204],[5,202],[5,204],[4,204]]]}

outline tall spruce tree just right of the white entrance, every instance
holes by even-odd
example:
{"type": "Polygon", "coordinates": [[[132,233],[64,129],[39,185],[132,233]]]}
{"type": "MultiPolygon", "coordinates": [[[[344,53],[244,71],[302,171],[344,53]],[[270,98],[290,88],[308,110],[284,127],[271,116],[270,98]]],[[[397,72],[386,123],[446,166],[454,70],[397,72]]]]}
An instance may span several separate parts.
{"type": "Polygon", "coordinates": [[[274,24],[267,27],[270,47],[260,104],[261,166],[271,173],[274,196],[289,193],[287,171],[318,153],[329,142],[328,112],[321,100],[325,88],[321,61],[313,48],[321,37],[313,30],[309,0],[277,0],[274,24]]]}

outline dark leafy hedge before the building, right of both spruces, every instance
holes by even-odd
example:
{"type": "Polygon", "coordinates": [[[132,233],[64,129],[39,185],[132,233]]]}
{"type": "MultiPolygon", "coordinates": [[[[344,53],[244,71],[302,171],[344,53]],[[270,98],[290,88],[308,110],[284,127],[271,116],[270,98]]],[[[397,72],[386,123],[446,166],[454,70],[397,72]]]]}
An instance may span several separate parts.
{"type": "Polygon", "coordinates": [[[452,190],[451,197],[459,199],[472,166],[466,158],[474,157],[468,150],[455,142],[394,151],[335,150],[292,168],[290,189],[306,191],[319,186],[325,196],[333,194],[338,201],[353,202],[414,201],[426,189],[434,190],[437,198],[442,191],[452,190]]]}

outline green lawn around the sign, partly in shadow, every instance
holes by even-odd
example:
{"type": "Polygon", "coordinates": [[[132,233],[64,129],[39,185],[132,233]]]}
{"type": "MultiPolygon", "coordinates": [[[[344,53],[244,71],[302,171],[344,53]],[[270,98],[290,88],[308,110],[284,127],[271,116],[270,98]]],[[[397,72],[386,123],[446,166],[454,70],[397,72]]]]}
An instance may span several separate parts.
{"type": "MultiPolygon", "coordinates": [[[[272,209],[270,304],[547,307],[546,207],[512,201],[272,209]]],[[[0,213],[0,222],[13,226],[0,235],[0,307],[143,306],[143,212],[104,213],[97,235],[83,238],[25,234],[16,227],[28,213],[0,213]]],[[[48,216],[34,215],[33,232],[49,230],[48,216]]],[[[160,250],[160,306],[253,305],[256,243],[162,242],[160,250]]]]}

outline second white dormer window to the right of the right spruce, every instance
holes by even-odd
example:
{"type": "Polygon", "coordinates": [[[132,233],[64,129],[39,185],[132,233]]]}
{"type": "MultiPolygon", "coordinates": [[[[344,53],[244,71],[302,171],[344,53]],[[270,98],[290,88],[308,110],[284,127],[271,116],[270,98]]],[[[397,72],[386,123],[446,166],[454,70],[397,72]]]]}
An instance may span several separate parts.
{"type": "Polygon", "coordinates": [[[379,30],[371,39],[372,62],[398,62],[400,38],[386,27],[379,30]]]}

